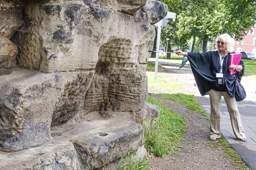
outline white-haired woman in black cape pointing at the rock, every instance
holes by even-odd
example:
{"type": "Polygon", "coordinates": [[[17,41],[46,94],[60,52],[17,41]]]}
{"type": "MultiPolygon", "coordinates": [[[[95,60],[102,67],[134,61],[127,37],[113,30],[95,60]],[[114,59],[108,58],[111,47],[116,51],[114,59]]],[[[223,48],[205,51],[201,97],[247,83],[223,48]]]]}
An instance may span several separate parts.
{"type": "Polygon", "coordinates": [[[209,94],[210,96],[210,140],[215,141],[220,138],[220,101],[223,96],[228,107],[234,135],[237,140],[247,142],[234,97],[234,74],[229,75],[229,71],[237,70],[236,77],[241,80],[245,65],[242,60],[240,65],[229,65],[229,55],[234,48],[234,40],[230,35],[219,35],[216,38],[216,46],[218,50],[205,53],[187,53],[181,50],[175,53],[187,56],[201,95],[209,94]]]}

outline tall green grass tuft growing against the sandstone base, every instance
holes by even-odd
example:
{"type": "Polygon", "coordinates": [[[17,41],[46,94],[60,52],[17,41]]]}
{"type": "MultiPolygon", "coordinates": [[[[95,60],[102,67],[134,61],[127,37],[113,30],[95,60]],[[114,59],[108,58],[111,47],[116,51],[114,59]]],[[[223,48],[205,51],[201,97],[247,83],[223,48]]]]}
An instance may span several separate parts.
{"type": "Polygon", "coordinates": [[[161,105],[154,97],[148,97],[147,102],[157,105],[159,116],[155,124],[145,124],[145,148],[158,157],[179,151],[178,141],[183,140],[186,118],[161,105]]]}

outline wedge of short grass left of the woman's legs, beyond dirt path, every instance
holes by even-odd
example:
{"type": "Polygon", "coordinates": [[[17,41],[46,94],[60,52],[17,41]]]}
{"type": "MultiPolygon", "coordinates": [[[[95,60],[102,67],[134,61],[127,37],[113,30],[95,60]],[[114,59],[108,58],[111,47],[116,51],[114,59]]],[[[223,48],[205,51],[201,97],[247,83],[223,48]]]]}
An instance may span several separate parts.
{"type": "Polygon", "coordinates": [[[198,100],[194,95],[188,95],[183,93],[176,93],[176,94],[159,94],[166,99],[173,100],[176,103],[186,106],[191,111],[195,111],[199,114],[206,116],[206,112],[201,108],[198,100]]]}

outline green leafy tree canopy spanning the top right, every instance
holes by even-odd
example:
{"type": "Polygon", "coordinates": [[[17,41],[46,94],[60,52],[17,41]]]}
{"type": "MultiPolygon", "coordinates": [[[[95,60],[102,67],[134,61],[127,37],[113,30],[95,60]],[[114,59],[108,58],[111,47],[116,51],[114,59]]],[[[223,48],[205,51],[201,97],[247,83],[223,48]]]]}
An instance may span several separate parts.
{"type": "MultiPolygon", "coordinates": [[[[176,20],[163,28],[161,40],[170,38],[172,46],[183,49],[192,37],[204,41],[219,34],[228,33],[241,39],[256,20],[256,0],[161,0],[169,10],[176,13],[176,20]]],[[[195,41],[194,41],[195,42],[195,41]]],[[[184,49],[183,49],[184,50],[184,49]]]]}

